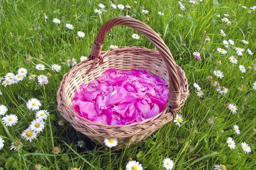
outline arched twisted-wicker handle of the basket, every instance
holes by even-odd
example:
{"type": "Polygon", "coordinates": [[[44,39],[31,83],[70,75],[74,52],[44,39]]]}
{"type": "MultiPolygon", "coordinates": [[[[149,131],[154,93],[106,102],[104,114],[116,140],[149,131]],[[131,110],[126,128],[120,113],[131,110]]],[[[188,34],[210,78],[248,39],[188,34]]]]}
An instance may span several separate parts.
{"type": "Polygon", "coordinates": [[[101,57],[100,53],[104,37],[107,34],[107,32],[116,25],[125,25],[137,30],[138,32],[143,34],[157,48],[157,51],[159,51],[161,57],[163,58],[169,73],[169,97],[171,98],[171,109],[173,111],[178,111],[180,108],[180,82],[177,73],[176,62],[171,54],[171,51],[165,45],[164,41],[160,38],[159,34],[152,30],[148,25],[144,24],[143,22],[135,18],[113,17],[105,23],[103,23],[103,25],[101,26],[96,35],[96,39],[93,43],[90,52],[90,58],[94,58],[95,61],[93,62],[91,68],[89,68],[87,73],[89,73],[91,69],[94,67],[97,59],[100,59],[99,64],[103,63],[103,58],[101,57]]]}

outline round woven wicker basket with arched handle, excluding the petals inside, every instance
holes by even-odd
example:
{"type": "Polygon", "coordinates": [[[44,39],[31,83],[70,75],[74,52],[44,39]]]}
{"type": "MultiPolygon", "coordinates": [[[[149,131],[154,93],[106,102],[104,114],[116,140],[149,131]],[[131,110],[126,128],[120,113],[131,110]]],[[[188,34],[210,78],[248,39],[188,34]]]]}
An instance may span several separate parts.
{"type": "Polygon", "coordinates": [[[57,92],[57,102],[61,115],[77,131],[88,136],[99,145],[104,145],[105,137],[117,138],[118,147],[121,147],[125,144],[130,145],[146,139],[162,125],[172,121],[188,95],[189,90],[185,73],[176,65],[170,50],[160,36],[137,19],[114,17],[106,21],[99,29],[89,58],[64,75],[57,92]],[[137,30],[156,47],[157,51],[134,46],[101,51],[106,33],[116,25],[125,25],[137,30]],[[170,82],[166,109],[153,118],[128,125],[103,125],[80,117],[72,109],[75,87],[79,87],[83,83],[87,85],[90,80],[95,80],[109,68],[115,68],[117,71],[145,68],[151,74],[170,82]]]}

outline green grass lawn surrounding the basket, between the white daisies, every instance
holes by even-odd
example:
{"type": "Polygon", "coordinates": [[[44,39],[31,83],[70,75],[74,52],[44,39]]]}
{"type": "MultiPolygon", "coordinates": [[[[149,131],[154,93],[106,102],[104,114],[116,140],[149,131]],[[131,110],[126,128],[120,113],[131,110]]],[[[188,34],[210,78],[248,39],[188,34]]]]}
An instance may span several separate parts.
{"type": "MultiPolygon", "coordinates": [[[[233,39],[237,47],[250,48],[256,53],[256,12],[247,13],[251,6],[256,5],[255,1],[218,0],[216,3],[217,0],[206,0],[192,4],[183,0],[186,11],[179,9],[177,0],[137,1],[138,4],[133,0],[114,1],[116,5],[130,4],[131,9],[123,11],[111,9],[110,1],[98,0],[0,1],[0,77],[4,77],[7,72],[16,73],[21,67],[27,68],[29,74],[52,74],[45,86],[28,78],[17,85],[0,85],[3,93],[0,104],[8,107],[7,114],[16,114],[19,119],[12,127],[0,122],[0,136],[5,141],[0,150],[0,170],[32,170],[35,164],[41,164],[44,170],[69,170],[72,167],[81,167],[82,170],[125,170],[130,157],[139,161],[145,170],[164,170],[162,161],[167,157],[175,162],[175,170],[213,170],[215,164],[224,164],[227,170],[256,169],[256,162],[253,161],[256,158],[256,90],[253,90],[256,73],[254,68],[245,73],[241,73],[238,68],[239,65],[246,68],[255,66],[255,54],[248,55],[244,51],[241,58],[237,57],[238,64],[232,65],[228,57],[232,54],[237,56],[234,49],[228,49],[226,55],[217,53],[217,48],[224,48],[224,39],[233,39]],[[112,149],[111,155],[109,150],[95,146],[86,136],[76,132],[68,122],[64,126],[58,125],[58,121],[63,118],[56,109],[55,100],[60,81],[70,69],[61,63],[72,57],[79,62],[80,56],[89,55],[102,24],[100,17],[94,13],[100,2],[108,10],[101,15],[103,22],[111,17],[129,15],[160,33],[176,63],[185,70],[190,84],[190,96],[181,112],[184,118],[181,127],[173,122],[166,124],[144,142],[122,150],[112,149]],[[241,8],[239,3],[248,8],[241,8]],[[149,11],[147,15],[141,12],[142,6],[149,11]],[[164,16],[159,16],[159,11],[164,16]],[[47,21],[43,13],[49,17],[47,21]],[[73,16],[75,13],[78,17],[73,16]],[[215,13],[221,17],[216,17],[215,13]],[[184,17],[178,17],[178,14],[184,17]],[[232,24],[221,21],[224,14],[229,14],[232,24]],[[54,24],[53,17],[60,18],[61,24],[54,24]],[[146,17],[149,17],[149,21],[145,20],[146,17]],[[65,23],[73,24],[74,30],[66,29],[65,23]],[[220,35],[221,29],[225,37],[220,35]],[[78,31],[84,32],[85,37],[77,38],[78,31]],[[204,31],[211,39],[205,44],[204,31]],[[13,36],[10,36],[10,32],[13,36]],[[249,44],[243,44],[242,39],[249,41],[249,44]],[[193,51],[201,53],[202,61],[194,59],[193,51]],[[28,54],[32,58],[30,64],[25,63],[28,54]],[[42,60],[39,60],[39,54],[43,55],[42,60]],[[217,64],[218,60],[222,61],[222,65],[217,64]],[[48,69],[36,70],[34,66],[38,63],[48,69]],[[61,72],[50,69],[53,63],[62,65],[61,72]],[[217,80],[212,73],[215,69],[224,73],[224,78],[218,81],[229,89],[225,95],[219,94],[206,80],[208,75],[217,80]],[[204,98],[197,97],[194,82],[204,89],[204,98]],[[240,85],[243,85],[242,91],[237,89],[240,85]],[[18,152],[10,151],[11,142],[20,139],[21,132],[34,119],[34,112],[26,108],[26,102],[31,98],[39,99],[41,108],[50,112],[46,128],[32,143],[21,139],[24,146],[18,152]],[[238,113],[231,114],[224,108],[226,103],[235,103],[238,113]],[[210,124],[207,120],[212,117],[215,117],[214,123],[210,124]],[[240,135],[235,134],[234,124],[239,125],[240,135]],[[229,136],[236,141],[234,150],[227,146],[226,139],[229,136]],[[84,148],[77,146],[78,140],[85,141],[84,148]],[[244,153],[241,142],[248,143],[252,152],[244,153]],[[61,153],[53,154],[54,146],[60,147],[61,153]]],[[[111,44],[154,49],[141,34],[139,40],[132,39],[133,33],[136,32],[131,28],[113,28],[105,38],[103,50],[108,50],[111,44]]]]}

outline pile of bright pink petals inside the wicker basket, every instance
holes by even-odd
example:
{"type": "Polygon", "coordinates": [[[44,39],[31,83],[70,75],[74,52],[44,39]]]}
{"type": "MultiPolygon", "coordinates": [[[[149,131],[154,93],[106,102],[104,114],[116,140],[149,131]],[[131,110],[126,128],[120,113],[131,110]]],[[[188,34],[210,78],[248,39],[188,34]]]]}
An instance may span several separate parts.
{"type": "Polygon", "coordinates": [[[88,86],[77,87],[73,109],[94,123],[124,125],[161,113],[168,98],[168,83],[145,69],[110,68],[88,86]]]}

